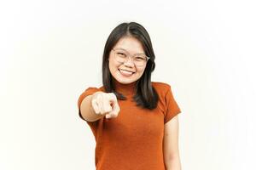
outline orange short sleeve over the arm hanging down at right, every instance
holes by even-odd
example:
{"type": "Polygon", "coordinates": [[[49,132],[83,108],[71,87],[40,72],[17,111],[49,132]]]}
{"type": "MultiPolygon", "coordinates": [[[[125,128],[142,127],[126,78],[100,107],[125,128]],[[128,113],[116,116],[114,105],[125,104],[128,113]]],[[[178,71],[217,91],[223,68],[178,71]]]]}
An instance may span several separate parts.
{"type": "Polygon", "coordinates": [[[177,105],[176,100],[173,97],[172,94],[172,88],[170,85],[167,85],[167,91],[166,91],[166,110],[165,110],[165,120],[164,122],[169,122],[174,116],[177,116],[181,112],[179,106],[177,105]]]}

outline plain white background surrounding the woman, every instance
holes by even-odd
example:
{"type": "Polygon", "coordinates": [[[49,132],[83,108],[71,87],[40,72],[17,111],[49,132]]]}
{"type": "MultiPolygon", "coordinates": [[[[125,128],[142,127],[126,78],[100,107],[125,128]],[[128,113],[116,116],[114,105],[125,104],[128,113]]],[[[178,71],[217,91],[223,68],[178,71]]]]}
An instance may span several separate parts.
{"type": "Polygon", "coordinates": [[[152,81],[182,109],[183,170],[256,169],[253,1],[2,1],[0,19],[1,170],[95,169],[77,101],[126,21],[148,30],[152,81]]]}

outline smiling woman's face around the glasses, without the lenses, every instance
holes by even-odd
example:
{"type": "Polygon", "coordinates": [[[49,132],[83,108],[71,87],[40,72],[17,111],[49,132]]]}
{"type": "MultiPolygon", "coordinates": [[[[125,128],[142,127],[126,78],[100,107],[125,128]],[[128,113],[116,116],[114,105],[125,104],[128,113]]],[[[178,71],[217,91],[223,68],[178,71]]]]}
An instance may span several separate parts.
{"type": "MultiPolygon", "coordinates": [[[[135,37],[123,37],[113,47],[125,49],[131,56],[134,54],[144,54],[143,46],[135,37]]],[[[111,50],[109,54],[109,70],[114,79],[123,84],[136,82],[143,76],[146,65],[137,66],[133,63],[132,59],[127,59],[125,63],[119,63],[114,58],[114,51],[111,50]],[[127,72],[128,71],[128,72],[127,72]]]]}

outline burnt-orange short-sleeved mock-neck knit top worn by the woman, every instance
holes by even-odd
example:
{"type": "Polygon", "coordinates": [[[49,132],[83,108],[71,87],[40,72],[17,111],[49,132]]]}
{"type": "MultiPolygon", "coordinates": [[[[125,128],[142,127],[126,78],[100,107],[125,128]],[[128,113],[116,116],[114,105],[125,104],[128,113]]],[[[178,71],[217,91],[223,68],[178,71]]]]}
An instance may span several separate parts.
{"type": "MultiPolygon", "coordinates": [[[[116,91],[127,100],[118,100],[119,115],[96,122],[87,122],[96,139],[95,164],[97,170],[165,170],[163,157],[164,125],[181,112],[173,98],[171,86],[152,82],[159,94],[154,110],[143,109],[132,101],[134,85],[115,82],[116,91]]],[[[90,87],[79,96],[79,116],[82,100],[101,88],[90,87]]]]}

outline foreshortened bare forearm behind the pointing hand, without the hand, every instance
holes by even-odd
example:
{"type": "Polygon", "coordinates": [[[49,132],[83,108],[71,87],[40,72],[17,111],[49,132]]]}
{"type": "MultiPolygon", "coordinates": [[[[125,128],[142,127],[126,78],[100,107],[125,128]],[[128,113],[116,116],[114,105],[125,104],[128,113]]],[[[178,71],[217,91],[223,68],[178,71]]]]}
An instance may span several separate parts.
{"type": "Polygon", "coordinates": [[[95,94],[86,96],[80,106],[81,116],[88,122],[95,122],[96,120],[102,118],[101,114],[96,114],[94,111],[92,105],[91,105],[91,99],[94,95],[99,94],[102,92],[96,92],[95,94]]]}

